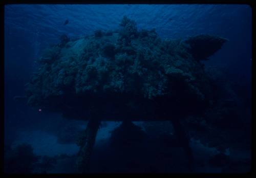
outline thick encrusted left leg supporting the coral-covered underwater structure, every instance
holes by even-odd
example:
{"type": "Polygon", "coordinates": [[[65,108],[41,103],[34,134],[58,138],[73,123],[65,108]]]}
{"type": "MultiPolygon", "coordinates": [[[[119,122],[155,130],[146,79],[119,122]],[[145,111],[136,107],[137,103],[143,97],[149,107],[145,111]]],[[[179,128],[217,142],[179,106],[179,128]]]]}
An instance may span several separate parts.
{"type": "Polygon", "coordinates": [[[86,173],[89,170],[90,157],[93,151],[97,131],[100,125],[100,121],[96,119],[89,120],[87,128],[78,143],[80,150],[77,159],[78,172],[86,173]]]}

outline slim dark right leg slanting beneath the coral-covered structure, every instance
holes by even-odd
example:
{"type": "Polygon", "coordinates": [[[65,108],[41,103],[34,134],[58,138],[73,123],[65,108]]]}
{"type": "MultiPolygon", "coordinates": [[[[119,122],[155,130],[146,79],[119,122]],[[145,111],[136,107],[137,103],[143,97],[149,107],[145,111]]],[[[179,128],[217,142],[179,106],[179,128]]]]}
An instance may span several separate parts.
{"type": "Polygon", "coordinates": [[[194,157],[191,150],[191,147],[189,145],[189,138],[186,135],[186,132],[184,128],[182,127],[179,119],[173,119],[172,120],[173,127],[176,133],[176,136],[178,140],[180,141],[181,145],[183,146],[184,152],[187,155],[188,159],[188,168],[190,171],[193,170],[193,164],[194,164],[194,157]]]}

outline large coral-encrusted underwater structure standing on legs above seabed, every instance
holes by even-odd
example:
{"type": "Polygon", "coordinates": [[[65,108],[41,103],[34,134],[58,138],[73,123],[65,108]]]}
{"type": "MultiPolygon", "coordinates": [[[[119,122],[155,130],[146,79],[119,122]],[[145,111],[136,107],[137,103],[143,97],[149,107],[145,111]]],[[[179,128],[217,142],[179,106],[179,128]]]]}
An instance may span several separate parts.
{"type": "Polygon", "coordinates": [[[212,103],[212,86],[201,60],[221,49],[227,39],[202,34],[186,39],[161,39],[156,31],[138,30],[124,16],[115,31],[71,40],[45,50],[39,69],[26,85],[28,104],[88,120],[78,145],[79,172],[87,172],[101,121],[173,123],[187,154],[193,154],[180,121],[201,115],[212,103]]]}

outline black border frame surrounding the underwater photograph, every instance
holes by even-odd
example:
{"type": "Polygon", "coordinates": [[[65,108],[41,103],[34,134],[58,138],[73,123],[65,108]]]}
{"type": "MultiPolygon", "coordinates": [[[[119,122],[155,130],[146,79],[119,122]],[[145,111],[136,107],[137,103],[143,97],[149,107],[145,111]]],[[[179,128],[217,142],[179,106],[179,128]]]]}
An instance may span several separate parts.
{"type": "MultiPolygon", "coordinates": [[[[59,176],[59,177],[63,177],[63,176],[133,176],[133,175],[137,175],[137,176],[172,176],[172,177],[190,177],[190,176],[194,176],[194,177],[256,177],[255,175],[255,153],[253,152],[255,147],[254,147],[254,138],[255,138],[255,131],[253,130],[253,126],[255,124],[255,121],[253,121],[253,114],[254,114],[254,102],[253,102],[253,88],[254,87],[254,71],[253,71],[253,65],[254,62],[252,62],[252,66],[251,66],[251,71],[252,71],[252,77],[251,77],[251,114],[252,114],[252,118],[251,118],[251,170],[248,173],[108,173],[108,174],[103,174],[103,173],[93,173],[93,174],[77,174],[77,173],[72,173],[72,174],[62,174],[62,173],[57,173],[57,174],[6,174],[4,173],[4,117],[5,117],[5,109],[4,109],[4,6],[8,5],[8,4],[243,4],[243,5],[249,5],[251,7],[252,10],[252,38],[254,38],[254,34],[253,34],[253,29],[254,25],[253,25],[253,20],[255,19],[255,14],[253,13],[253,9],[254,9],[254,5],[253,5],[253,0],[160,0],[160,1],[154,1],[154,0],[139,0],[139,1],[134,1],[134,0],[123,0],[123,1],[118,1],[118,0],[111,0],[111,1],[100,1],[100,0],[75,0],[75,1],[68,1],[68,0],[2,0],[0,2],[1,5],[1,43],[0,43],[0,47],[1,47],[1,58],[0,58],[0,86],[1,86],[1,103],[0,103],[0,113],[3,117],[0,116],[0,118],[2,119],[2,132],[0,133],[1,139],[3,139],[2,144],[3,146],[1,147],[1,151],[2,154],[0,156],[1,159],[1,174],[4,176],[15,176],[15,175],[23,175],[23,176],[59,176]]],[[[253,40],[252,40],[252,58],[254,57],[253,55],[254,53],[254,44],[253,44],[253,40]]],[[[255,90],[255,89],[254,89],[255,90]]]]}

